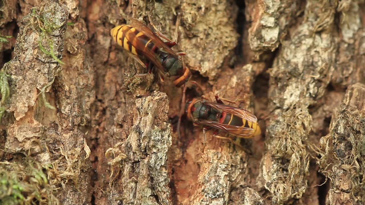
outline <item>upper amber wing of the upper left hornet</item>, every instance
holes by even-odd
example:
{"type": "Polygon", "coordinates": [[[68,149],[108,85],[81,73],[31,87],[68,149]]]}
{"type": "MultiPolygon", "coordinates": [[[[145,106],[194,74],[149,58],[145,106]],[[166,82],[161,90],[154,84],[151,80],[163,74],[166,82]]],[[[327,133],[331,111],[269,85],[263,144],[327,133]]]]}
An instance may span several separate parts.
{"type": "Polygon", "coordinates": [[[130,26],[136,28],[137,30],[142,31],[143,34],[145,34],[146,36],[148,36],[150,39],[153,40],[153,42],[159,49],[163,49],[167,53],[174,55],[176,58],[179,58],[179,55],[177,55],[175,51],[173,51],[168,45],[166,45],[165,42],[163,42],[157,34],[151,31],[150,28],[145,26],[145,24],[139,22],[138,20],[131,19],[130,26]]]}

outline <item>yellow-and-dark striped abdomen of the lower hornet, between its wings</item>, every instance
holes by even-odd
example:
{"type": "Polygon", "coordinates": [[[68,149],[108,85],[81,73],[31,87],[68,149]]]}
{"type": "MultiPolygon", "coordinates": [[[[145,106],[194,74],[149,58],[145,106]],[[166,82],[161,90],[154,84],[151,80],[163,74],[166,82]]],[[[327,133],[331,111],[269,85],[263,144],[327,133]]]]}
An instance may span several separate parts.
{"type": "Polygon", "coordinates": [[[222,124],[227,124],[227,125],[233,125],[233,126],[245,127],[245,128],[252,128],[254,130],[252,132],[253,134],[250,135],[250,136],[247,136],[247,138],[250,138],[252,136],[256,136],[256,135],[261,134],[261,129],[257,125],[257,123],[253,123],[249,120],[245,120],[245,119],[243,119],[241,117],[238,117],[236,115],[232,115],[231,113],[223,112],[219,122],[222,123],[222,124]]]}

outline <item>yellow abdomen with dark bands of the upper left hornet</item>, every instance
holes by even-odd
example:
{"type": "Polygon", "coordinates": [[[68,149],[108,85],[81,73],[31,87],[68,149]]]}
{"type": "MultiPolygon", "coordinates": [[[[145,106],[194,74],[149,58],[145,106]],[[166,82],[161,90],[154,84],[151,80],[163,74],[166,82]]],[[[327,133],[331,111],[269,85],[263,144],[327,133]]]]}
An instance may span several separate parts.
{"type": "Polygon", "coordinates": [[[110,30],[110,35],[119,46],[122,46],[134,55],[143,55],[142,50],[138,48],[143,48],[143,51],[146,52],[147,50],[153,50],[155,47],[152,39],[148,38],[143,32],[127,24],[112,28],[110,30]]]}

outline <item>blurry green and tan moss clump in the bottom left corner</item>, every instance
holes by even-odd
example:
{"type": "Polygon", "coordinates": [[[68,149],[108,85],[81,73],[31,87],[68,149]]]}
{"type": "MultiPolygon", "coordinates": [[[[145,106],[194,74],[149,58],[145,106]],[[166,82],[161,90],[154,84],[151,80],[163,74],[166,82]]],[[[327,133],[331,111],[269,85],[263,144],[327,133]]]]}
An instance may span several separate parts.
{"type": "Polygon", "coordinates": [[[41,165],[31,159],[24,164],[0,162],[0,204],[60,204],[50,185],[49,165],[41,165]]]}

